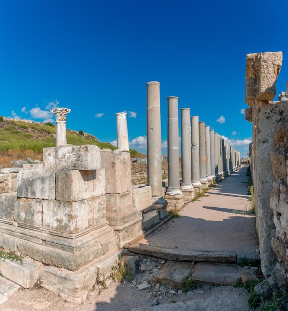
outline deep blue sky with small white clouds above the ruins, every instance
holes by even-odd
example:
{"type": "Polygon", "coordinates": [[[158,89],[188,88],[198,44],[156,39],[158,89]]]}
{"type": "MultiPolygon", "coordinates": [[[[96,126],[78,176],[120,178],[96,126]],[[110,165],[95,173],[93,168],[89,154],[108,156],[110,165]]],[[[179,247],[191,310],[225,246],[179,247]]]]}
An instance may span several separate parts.
{"type": "Polygon", "coordinates": [[[115,113],[129,111],[130,147],[145,152],[157,80],[163,142],[166,97],[178,96],[179,116],[190,107],[243,156],[246,54],[283,51],[285,90],[287,12],[287,0],[0,0],[0,115],[43,121],[69,107],[68,128],[112,142],[115,113]]]}

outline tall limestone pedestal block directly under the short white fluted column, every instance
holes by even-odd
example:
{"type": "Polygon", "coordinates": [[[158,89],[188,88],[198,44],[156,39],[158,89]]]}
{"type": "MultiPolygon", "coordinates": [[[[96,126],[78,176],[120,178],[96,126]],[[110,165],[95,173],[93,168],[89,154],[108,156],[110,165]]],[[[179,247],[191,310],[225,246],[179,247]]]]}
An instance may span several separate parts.
{"type": "Polygon", "coordinates": [[[106,193],[123,193],[132,190],[129,152],[101,151],[101,167],[105,168],[106,193]]]}

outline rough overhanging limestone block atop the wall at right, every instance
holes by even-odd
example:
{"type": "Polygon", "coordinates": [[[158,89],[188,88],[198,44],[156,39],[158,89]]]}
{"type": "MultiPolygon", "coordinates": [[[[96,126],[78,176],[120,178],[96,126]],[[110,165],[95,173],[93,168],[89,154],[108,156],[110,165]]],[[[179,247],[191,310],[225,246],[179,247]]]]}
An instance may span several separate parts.
{"type": "Polygon", "coordinates": [[[245,101],[272,100],[282,66],[282,52],[247,54],[245,101]]]}

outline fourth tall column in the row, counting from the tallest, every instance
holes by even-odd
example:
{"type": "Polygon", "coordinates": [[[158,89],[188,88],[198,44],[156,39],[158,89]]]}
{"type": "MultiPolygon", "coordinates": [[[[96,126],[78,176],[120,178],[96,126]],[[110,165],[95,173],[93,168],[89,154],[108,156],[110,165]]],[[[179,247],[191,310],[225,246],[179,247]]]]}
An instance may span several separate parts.
{"type": "Polygon", "coordinates": [[[192,184],[194,188],[201,188],[200,182],[200,157],[199,157],[199,117],[191,117],[191,169],[192,184]]]}

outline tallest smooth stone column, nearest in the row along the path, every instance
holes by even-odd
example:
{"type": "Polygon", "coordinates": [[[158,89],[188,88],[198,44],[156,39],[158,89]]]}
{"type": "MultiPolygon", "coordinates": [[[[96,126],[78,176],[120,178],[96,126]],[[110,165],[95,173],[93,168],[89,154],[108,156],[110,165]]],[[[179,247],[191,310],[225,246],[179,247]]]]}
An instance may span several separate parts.
{"type": "Polygon", "coordinates": [[[147,83],[147,175],[152,196],[162,195],[160,83],[147,83]]]}

